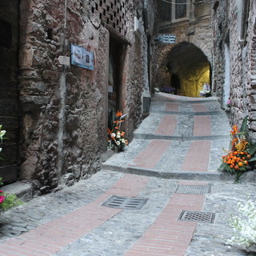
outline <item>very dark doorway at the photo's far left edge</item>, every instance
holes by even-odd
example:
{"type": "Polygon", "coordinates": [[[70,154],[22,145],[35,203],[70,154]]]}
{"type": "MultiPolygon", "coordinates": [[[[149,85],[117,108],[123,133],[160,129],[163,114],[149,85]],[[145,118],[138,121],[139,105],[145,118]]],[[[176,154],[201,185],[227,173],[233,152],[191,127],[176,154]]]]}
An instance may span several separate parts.
{"type": "Polygon", "coordinates": [[[15,182],[18,166],[19,1],[2,0],[0,9],[0,125],[6,130],[0,160],[3,182],[15,182]]]}

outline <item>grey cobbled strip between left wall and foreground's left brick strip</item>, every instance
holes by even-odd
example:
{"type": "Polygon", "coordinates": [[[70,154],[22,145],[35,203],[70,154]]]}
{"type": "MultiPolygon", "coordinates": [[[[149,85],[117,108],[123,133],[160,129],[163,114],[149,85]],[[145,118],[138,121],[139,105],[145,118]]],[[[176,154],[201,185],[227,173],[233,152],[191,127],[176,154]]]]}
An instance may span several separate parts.
{"type": "Polygon", "coordinates": [[[90,180],[83,180],[72,187],[66,187],[65,190],[34,198],[24,206],[7,210],[0,216],[0,239],[16,237],[70,210],[93,202],[120,177],[122,174],[116,172],[101,172],[90,180]],[[19,229],[20,226],[22,230],[19,229]]]}

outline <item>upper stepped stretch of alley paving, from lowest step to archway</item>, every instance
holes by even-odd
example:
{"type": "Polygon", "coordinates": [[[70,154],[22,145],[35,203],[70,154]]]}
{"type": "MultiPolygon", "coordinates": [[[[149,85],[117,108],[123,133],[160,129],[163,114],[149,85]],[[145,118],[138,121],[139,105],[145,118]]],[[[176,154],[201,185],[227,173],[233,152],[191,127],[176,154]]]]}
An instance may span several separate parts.
{"type": "MultiPolygon", "coordinates": [[[[152,99],[153,112],[151,111],[134,131],[134,141],[126,147],[125,152],[115,154],[104,162],[103,168],[126,173],[131,171],[133,174],[150,175],[151,173],[154,177],[165,178],[182,178],[182,171],[191,171],[191,178],[198,177],[198,171],[218,174],[218,166],[224,154],[222,149],[230,146],[231,129],[226,112],[220,109],[216,98],[185,99],[177,95],[156,94],[152,99]],[[180,112],[174,114],[166,111],[172,109],[180,112]],[[217,114],[214,112],[209,115],[209,111],[215,111],[217,114]],[[197,115],[198,113],[200,115],[197,115]],[[168,116],[170,118],[167,118],[168,116]],[[166,122],[172,122],[172,126],[166,122]],[[150,162],[155,157],[154,150],[147,152],[149,146],[154,140],[161,139],[170,140],[170,146],[163,150],[162,157],[158,158],[159,161],[154,162],[153,166],[147,164],[147,161],[150,162]],[[207,150],[202,148],[205,141],[210,143],[207,144],[207,150]],[[135,164],[134,159],[138,158],[143,158],[143,163],[135,164]],[[185,166],[184,161],[186,161],[185,166]],[[190,164],[193,162],[194,165],[190,164]],[[132,169],[130,166],[137,168],[132,169]],[[138,167],[141,169],[139,170],[138,167]],[[181,174],[178,175],[177,172],[181,174]]],[[[203,178],[206,177],[205,175],[203,174],[203,178]]],[[[188,173],[184,173],[185,177],[188,178],[188,173]]],[[[210,177],[216,178],[212,174],[210,177]]]]}

